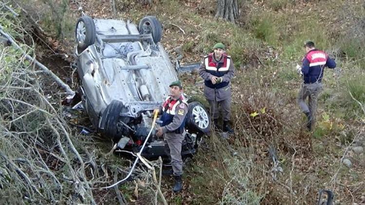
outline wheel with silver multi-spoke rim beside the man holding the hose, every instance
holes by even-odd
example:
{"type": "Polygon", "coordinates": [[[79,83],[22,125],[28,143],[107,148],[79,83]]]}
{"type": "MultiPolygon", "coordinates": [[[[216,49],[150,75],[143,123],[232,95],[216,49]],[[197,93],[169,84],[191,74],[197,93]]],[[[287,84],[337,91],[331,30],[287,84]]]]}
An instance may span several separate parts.
{"type": "Polygon", "coordinates": [[[211,120],[208,111],[200,102],[191,102],[188,105],[185,127],[189,133],[206,134],[210,130],[211,120]]]}

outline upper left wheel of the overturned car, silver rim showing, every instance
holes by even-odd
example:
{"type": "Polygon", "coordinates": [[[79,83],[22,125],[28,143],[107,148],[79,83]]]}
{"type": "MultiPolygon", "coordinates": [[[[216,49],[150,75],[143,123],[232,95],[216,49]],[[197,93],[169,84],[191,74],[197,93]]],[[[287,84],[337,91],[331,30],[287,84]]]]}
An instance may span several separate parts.
{"type": "Polygon", "coordinates": [[[83,16],[77,20],[75,38],[79,52],[84,51],[95,42],[95,24],[91,17],[83,16]]]}

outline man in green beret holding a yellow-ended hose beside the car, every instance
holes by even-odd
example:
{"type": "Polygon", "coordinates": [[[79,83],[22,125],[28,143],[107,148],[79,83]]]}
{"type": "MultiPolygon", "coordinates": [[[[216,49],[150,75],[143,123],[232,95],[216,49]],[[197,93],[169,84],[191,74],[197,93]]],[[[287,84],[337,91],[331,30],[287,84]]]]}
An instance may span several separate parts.
{"type": "Polygon", "coordinates": [[[162,111],[161,127],[157,129],[156,136],[164,135],[165,152],[171,159],[172,171],[175,178],[174,192],[183,188],[183,160],[181,147],[184,139],[185,116],[187,113],[187,102],[183,96],[183,86],[180,81],[170,84],[171,95],[168,96],[160,108],[162,111]]]}

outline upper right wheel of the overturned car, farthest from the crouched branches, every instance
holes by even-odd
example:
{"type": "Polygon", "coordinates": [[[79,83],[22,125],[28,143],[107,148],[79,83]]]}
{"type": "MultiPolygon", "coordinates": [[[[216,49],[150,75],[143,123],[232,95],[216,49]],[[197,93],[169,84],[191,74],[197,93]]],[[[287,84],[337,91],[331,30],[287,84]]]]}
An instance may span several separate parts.
{"type": "Polygon", "coordinates": [[[162,38],[162,25],[154,16],[143,17],[138,25],[140,34],[152,34],[153,42],[158,43],[162,38]]]}

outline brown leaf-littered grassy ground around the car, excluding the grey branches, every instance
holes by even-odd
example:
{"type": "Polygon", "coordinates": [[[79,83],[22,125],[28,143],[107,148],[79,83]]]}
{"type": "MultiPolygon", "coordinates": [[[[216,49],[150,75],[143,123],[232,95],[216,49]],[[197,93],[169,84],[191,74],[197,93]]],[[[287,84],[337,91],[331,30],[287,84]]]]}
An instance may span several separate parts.
{"type": "MultiPolygon", "coordinates": [[[[134,0],[78,0],[71,3],[60,0],[54,4],[50,4],[53,1],[35,2],[36,4],[30,5],[24,1],[23,7],[35,18],[39,18],[39,25],[50,36],[48,45],[60,53],[71,53],[70,39],[73,38],[73,26],[78,17],[76,10],[80,6],[92,17],[122,17],[138,22],[146,15],[157,16],[164,25],[162,43],[165,49],[172,60],[182,54],[183,63],[200,61],[201,56],[211,51],[212,45],[217,41],[228,46],[227,52],[232,56],[237,69],[237,76],[232,82],[232,122],[236,134],[229,140],[214,134],[205,139],[206,143],[200,152],[185,163],[182,193],[171,193],[172,178],[163,178],[162,189],[169,204],[315,204],[320,189],[333,190],[336,204],[365,203],[365,155],[351,150],[355,145],[365,144],[365,113],[361,109],[361,106],[364,109],[365,103],[365,11],[362,1],[241,0],[241,16],[236,24],[214,19],[214,0],[155,0],[151,5],[143,6],[134,0]],[[114,2],[114,7],[111,2],[114,2]],[[34,6],[42,9],[35,10],[34,6]],[[66,9],[60,12],[60,8],[66,9]],[[57,12],[50,16],[47,11],[52,10],[57,12]],[[175,25],[180,26],[185,34],[175,25]],[[313,132],[307,132],[303,128],[304,116],[295,102],[301,79],[296,75],[294,66],[304,54],[302,43],[307,39],[312,39],[318,48],[328,51],[338,64],[338,69],[326,70],[325,89],[320,96],[318,122],[313,132]],[[179,46],[182,47],[182,53],[177,53],[174,49],[179,46]],[[253,115],[255,112],[256,116],[253,115]],[[341,164],[344,158],[351,160],[351,168],[341,164]]],[[[2,19],[1,25],[4,22],[7,21],[2,19]]],[[[9,23],[9,27],[12,24],[9,23]]],[[[34,46],[37,51],[40,50],[37,49],[38,46],[44,48],[39,42],[34,46]]],[[[8,65],[8,62],[16,61],[5,58],[12,54],[3,56],[1,64],[5,62],[8,65]]],[[[8,77],[15,71],[11,66],[3,68],[8,70],[2,69],[2,76],[8,77]]],[[[30,68],[25,65],[24,70],[26,69],[30,68]]],[[[72,70],[63,69],[63,79],[70,78],[72,70]]],[[[180,77],[185,83],[187,94],[202,94],[202,81],[197,73],[183,74],[180,77]]],[[[43,81],[42,76],[37,78],[43,81]]],[[[5,84],[1,82],[1,85],[5,84]]],[[[47,92],[46,88],[42,89],[47,92]]],[[[55,102],[59,102],[60,97],[55,95],[55,91],[48,92],[53,93],[55,102]]],[[[4,93],[5,96],[9,94],[1,90],[1,97],[5,97],[4,93]]],[[[24,101],[29,99],[29,95],[26,95],[24,101]]],[[[16,99],[22,97],[23,93],[14,96],[16,99]]],[[[44,105],[45,101],[31,103],[40,103],[44,108],[39,107],[47,111],[53,109],[44,105]]],[[[7,125],[4,126],[6,132],[20,135],[18,133],[22,129],[32,125],[29,119],[21,117],[26,110],[20,109],[17,115],[10,118],[5,115],[10,105],[4,102],[2,106],[6,111],[1,108],[1,123],[7,125]],[[18,117],[27,126],[9,127],[6,124],[18,117]]],[[[55,104],[53,107],[58,113],[62,110],[55,104]]],[[[43,116],[38,124],[47,124],[47,120],[57,119],[43,116]]],[[[31,132],[34,127],[30,128],[24,132],[31,132]]],[[[50,135],[54,131],[45,129],[43,135],[51,136],[52,140],[56,138],[50,135]]],[[[99,170],[99,183],[94,182],[90,169],[78,174],[92,182],[91,189],[96,203],[116,203],[114,190],[97,188],[102,187],[102,183],[111,182],[112,178],[106,176],[106,173],[110,175],[118,167],[123,167],[127,163],[126,159],[105,155],[111,149],[111,144],[101,141],[97,136],[85,139],[75,131],[67,130],[71,133],[73,142],[78,145],[76,149],[83,153],[82,157],[87,158],[88,152],[93,153],[96,170],[99,170]],[[83,149],[85,144],[87,146],[83,149]]],[[[27,133],[25,136],[30,135],[27,133]]],[[[0,139],[3,148],[1,151],[5,150],[5,142],[13,142],[7,141],[8,138],[0,139]]],[[[20,142],[19,146],[24,143],[20,142]]],[[[67,141],[61,143],[67,146],[67,141]]],[[[53,143],[44,146],[47,149],[55,148],[53,143]]],[[[59,147],[55,153],[59,153],[59,147]]],[[[15,161],[20,157],[20,154],[5,155],[15,161]]],[[[32,157],[32,153],[23,158],[27,159],[27,156],[32,157]]],[[[45,153],[40,154],[40,161],[42,156],[47,165],[44,168],[58,171],[60,175],[66,169],[65,164],[55,163],[55,159],[45,153]]],[[[73,169],[80,171],[80,162],[74,154],[72,156],[73,169]]],[[[6,161],[4,158],[1,160],[4,163],[6,161]]],[[[35,167],[29,169],[23,164],[18,166],[26,170],[30,177],[36,177],[35,167]]],[[[14,167],[7,166],[4,169],[14,167]]],[[[143,171],[144,168],[141,167],[138,172],[142,173],[138,177],[138,196],[133,182],[119,187],[130,204],[153,201],[150,176],[143,171]]],[[[64,173],[68,174],[67,171],[64,173]]],[[[16,174],[10,178],[12,177],[16,177],[16,174]]],[[[19,193],[25,193],[24,188],[16,189],[22,184],[19,176],[17,180],[8,183],[19,193]]],[[[29,191],[29,187],[26,188],[29,191]]],[[[14,194],[13,189],[5,190],[0,196],[14,194]]],[[[71,200],[68,196],[72,196],[73,187],[68,186],[68,190],[63,192],[53,189],[49,191],[55,198],[71,200]]],[[[33,196],[39,197],[36,193],[33,196]]],[[[5,202],[11,201],[5,199],[5,202]]]]}

